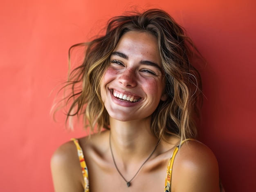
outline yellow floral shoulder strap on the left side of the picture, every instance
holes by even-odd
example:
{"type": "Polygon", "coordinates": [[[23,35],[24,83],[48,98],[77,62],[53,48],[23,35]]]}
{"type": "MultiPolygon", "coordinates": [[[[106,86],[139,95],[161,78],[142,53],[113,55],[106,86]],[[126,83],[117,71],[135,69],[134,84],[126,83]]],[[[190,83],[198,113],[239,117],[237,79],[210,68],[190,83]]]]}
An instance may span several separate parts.
{"type": "Polygon", "coordinates": [[[79,142],[77,139],[72,138],[72,141],[74,141],[75,145],[76,145],[76,149],[77,149],[77,154],[79,157],[79,161],[80,161],[80,166],[82,169],[82,173],[83,173],[83,181],[85,183],[84,185],[84,192],[89,192],[89,177],[88,177],[88,169],[85,163],[85,159],[84,159],[84,155],[83,155],[83,150],[81,148],[81,146],[79,145],[79,142]]]}

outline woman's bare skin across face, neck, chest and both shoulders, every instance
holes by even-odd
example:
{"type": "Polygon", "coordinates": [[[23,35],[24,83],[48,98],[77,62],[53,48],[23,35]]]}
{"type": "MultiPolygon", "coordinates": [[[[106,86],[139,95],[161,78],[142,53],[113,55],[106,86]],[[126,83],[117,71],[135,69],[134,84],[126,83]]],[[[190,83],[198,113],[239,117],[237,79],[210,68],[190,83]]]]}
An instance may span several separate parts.
{"type": "MultiPolygon", "coordinates": [[[[110,57],[101,82],[101,97],[110,115],[112,150],[117,167],[130,180],[155,148],[157,138],[150,132],[151,114],[165,101],[164,73],[155,37],[148,33],[125,33],[110,57]],[[117,99],[118,94],[137,102],[117,99]]],[[[90,192],[163,192],[168,161],[180,138],[160,141],[153,155],[127,188],[117,172],[110,152],[109,134],[103,131],[83,137],[79,143],[88,166],[90,192]]],[[[82,192],[83,177],[72,141],[56,150],[51,161],[56,192],[82,192]]],[[[218,163],[207,146],[189,141],[175,157],[172,192],[219,192],[218,163]]]]}

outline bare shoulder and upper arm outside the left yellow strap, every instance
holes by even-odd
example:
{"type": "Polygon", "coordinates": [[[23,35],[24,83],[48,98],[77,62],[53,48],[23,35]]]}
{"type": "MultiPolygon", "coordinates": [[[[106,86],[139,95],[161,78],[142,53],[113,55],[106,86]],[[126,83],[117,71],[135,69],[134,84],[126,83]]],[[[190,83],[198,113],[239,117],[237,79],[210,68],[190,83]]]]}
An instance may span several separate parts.
{"type": "Polygon", "coordinates": [[[83,176],[74,143],[60,146],[51,159],[55,192],[83,192],[83,176]]]}

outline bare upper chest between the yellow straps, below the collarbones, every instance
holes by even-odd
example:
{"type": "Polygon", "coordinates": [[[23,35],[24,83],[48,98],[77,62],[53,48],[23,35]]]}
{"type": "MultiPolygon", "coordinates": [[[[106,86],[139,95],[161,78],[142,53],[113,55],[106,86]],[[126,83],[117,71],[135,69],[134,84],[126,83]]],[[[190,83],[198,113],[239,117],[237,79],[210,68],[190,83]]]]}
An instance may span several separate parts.
{"type": "Polygon", "coordinates": [[[130,174],[122,174],[126,181],[134,177],[128,187],[115,166],[102,168],[95,164],[90,165],[88,167],[90,192],[164,192],[167,166],[166,159],[155,165],[145,165],[135,177],[136,170],[132,170],[130,174]]]}

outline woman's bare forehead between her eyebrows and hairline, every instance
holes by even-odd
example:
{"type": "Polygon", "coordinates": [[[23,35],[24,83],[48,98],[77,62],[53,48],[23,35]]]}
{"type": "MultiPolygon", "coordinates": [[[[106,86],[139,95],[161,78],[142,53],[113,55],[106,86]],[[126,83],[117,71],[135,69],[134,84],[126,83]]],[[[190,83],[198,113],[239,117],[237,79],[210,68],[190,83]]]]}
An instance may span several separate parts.
{"type": "Polygon", "coordinates": [[[146,32],[126,32],[121,36],[114,51],[124,53],[128,57],[146,57],[161,63],[157,38],[146,32]]]}

